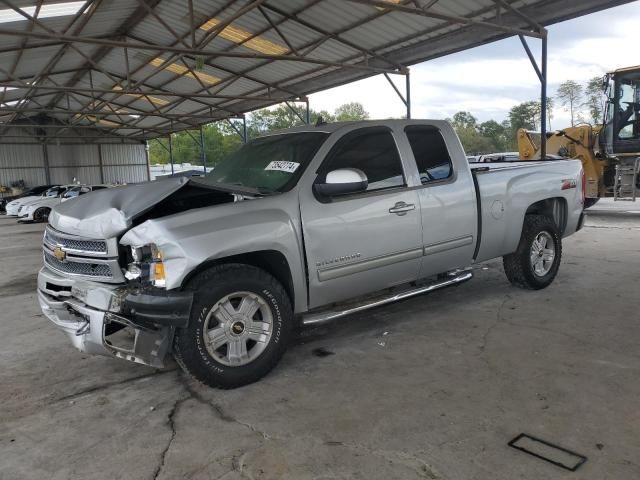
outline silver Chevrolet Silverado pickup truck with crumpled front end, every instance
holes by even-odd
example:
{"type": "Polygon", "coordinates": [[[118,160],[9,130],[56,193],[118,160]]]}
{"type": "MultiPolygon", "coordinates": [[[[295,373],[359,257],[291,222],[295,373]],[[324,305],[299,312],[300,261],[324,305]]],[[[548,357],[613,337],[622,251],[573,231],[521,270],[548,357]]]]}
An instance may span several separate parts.
{"type": "Polygon", "coordinates": [[[202,179],[118,187],[53,209],[43,312],[80,350],[233,388],[280,360],[296,325],[471,278],[556,276],[581,228],[579,161],[470,168],[449,124],[385,120],[258,138],[202,179]]]}

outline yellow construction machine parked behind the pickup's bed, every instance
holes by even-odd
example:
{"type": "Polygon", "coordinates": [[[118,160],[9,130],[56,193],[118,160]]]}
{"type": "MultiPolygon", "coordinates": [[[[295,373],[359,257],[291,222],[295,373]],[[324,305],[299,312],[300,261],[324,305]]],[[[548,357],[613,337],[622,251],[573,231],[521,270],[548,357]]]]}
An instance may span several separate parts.
{"type": "MultiPolygon", "coordinates": [[[[582,161],[585,208],[600,198],[640,197],[640,66],[606,74],[602,125],[579,124],[547,133],[547,158],[582,161]]],[[[520,160],[540,159],[540,133],[518,130],[520,160]]]]}

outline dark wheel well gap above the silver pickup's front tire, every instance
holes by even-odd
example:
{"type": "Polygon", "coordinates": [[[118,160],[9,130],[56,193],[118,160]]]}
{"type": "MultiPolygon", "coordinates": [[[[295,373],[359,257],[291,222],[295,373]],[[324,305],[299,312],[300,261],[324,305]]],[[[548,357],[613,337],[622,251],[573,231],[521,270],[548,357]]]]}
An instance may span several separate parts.
{"type": "Polygon", "coordinates": [[[289,268],[289,262],[286,257],[277,250],[260,250],[257,252],[242,253],[239,255],[232,255],[230,257],[216,258],[199,265],[198,268],[193,270],[182,282],[182,286],[187,285],[192,278],[199,273],[216,265],[223,265],[225,263],[242,263],[245,265],[252,265],[260,268],[265,272],[273,275],[278,280],[291,300],[291,304],[294,304],[294,287],[293,277],[291,276],[291,269],[289,268]]]}

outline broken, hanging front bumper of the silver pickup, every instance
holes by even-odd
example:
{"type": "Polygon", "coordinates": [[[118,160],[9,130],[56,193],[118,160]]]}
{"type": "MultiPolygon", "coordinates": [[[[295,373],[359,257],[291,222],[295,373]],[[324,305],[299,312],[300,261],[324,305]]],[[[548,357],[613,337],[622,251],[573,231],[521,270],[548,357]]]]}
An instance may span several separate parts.
{"type": "Polygon", "coordinates": [[[43,267],[38,300],[78,350],[162,368],[175,327],[188,322],[193,297],[185,292],[141,294],[122,285],[62,277],[43,267]],[[150,300],[156,297],[161,299],[150,300]],[[156,318],[155,311],[164,314],[156,318]]]}

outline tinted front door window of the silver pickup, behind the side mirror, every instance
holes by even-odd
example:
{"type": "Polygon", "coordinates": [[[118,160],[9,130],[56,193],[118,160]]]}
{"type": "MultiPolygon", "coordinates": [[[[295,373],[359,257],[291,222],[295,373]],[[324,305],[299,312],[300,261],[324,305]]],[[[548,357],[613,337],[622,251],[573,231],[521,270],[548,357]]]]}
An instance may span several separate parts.
{"type": "Polygon", "coordinates": [[[405,185],[400,155],[386,128],[358,130],[340,139],[321,167],[321,175],[338,168],[362,170],[369,181],[367,192],[405,185]]]}

